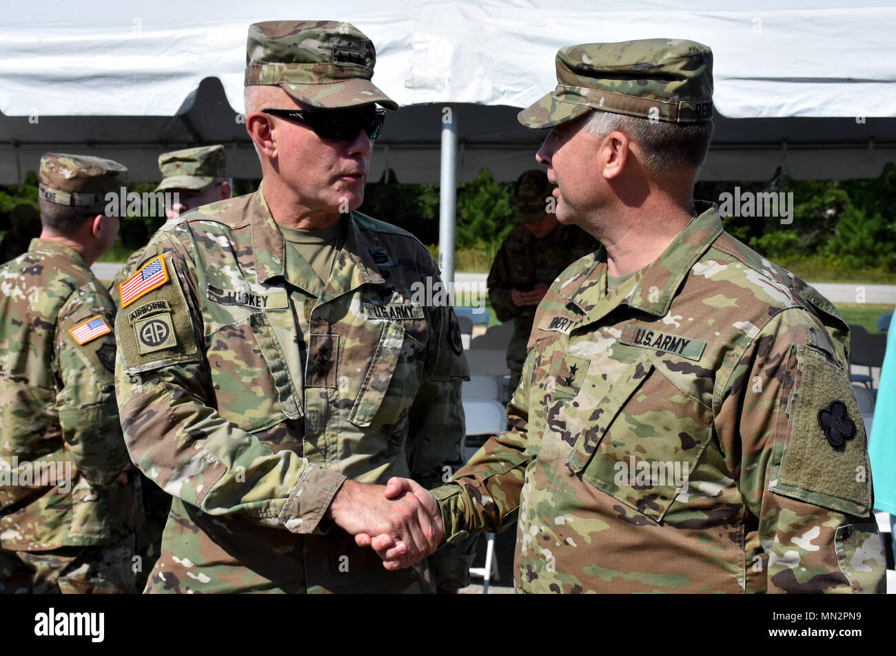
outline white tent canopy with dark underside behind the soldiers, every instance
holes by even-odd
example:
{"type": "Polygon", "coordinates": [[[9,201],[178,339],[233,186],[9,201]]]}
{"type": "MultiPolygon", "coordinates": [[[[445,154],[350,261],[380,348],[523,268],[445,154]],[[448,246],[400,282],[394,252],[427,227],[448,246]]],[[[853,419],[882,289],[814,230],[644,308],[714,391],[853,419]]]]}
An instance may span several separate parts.
{"type": "Polygon", "coordinates": [[[96,152],[133,179],[158,177],[159,151],[228,146],[234,177],[260,177],[242,110],[246,28],[271,18],[347,20],[377,47],[375,83],[402,110],[387,119],[371,179],[438,179],[444,108],[458,180],[511,179],[543,134],[517,108],[555,84],[557,48],[590,41],[694,39],[715,54],[716,138],[704,179],[873,177],[896,160],[896,8],[887,2],[619,4],[478,0],[401,4],[118,3],[32,0],[0,26],[0,183],[45,151],[96,152]]]}

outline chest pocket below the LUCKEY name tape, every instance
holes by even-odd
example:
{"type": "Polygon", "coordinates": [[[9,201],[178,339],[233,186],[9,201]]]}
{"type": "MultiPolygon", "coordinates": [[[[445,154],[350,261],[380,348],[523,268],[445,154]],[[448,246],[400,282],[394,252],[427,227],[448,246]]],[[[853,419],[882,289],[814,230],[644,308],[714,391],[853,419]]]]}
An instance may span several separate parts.
{"type": "Polygon", "coordinates": [[[249,432],[302,416],[286,359],[263,312],[205,336],[217,409],[249,432]]]}

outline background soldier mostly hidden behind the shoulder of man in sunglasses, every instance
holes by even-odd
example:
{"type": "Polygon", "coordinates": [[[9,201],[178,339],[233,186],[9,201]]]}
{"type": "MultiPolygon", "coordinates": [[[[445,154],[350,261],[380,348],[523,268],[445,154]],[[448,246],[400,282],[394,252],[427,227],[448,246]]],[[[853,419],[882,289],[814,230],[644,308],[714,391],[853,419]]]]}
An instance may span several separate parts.
{"type": "MultiPolygon", "coordinates": [[[[230,183],[225,177],[226,169],[227,160],[224,157],[224,146],[221,145],[186,148],[159,155],[162,180],[154,191],[177,194],[177,203],[165,204],[165,215],[168,220],[162,229],[174,228],[177,225],[177,218],[186,211],[229,198],[230,183]]],[[[121,271],[109,285],[109,292],[116,303],[120,298],[121,283],[133,274],[134,269],[141,263],[142,256],[141,248],[128,257],[121,271]]],[[[171,508],[171,496],[168,493],[142,474],[141,479],[146,520],[137,532],[137,551],[144,565],[143,571],[137,577],[140,589],[146,583],[151,566],[159,558],[162,529],[165,528],[168,511],[171,508]]]]}

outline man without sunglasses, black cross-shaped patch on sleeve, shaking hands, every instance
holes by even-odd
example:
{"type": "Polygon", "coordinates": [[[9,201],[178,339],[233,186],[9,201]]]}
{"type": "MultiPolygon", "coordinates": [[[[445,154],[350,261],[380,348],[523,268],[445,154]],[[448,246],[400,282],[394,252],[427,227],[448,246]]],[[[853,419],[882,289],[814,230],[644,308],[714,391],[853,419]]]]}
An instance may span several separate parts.
{"type": "Polygon", "coordinates": [[[435,490],[449,540],[518,521],[519,591],[883,591],[847,324],[692,201],[711,62],[567,47],[520,114],[553,127],[557,219],[603,247],[538,306],[513,431],[435,490]]]}

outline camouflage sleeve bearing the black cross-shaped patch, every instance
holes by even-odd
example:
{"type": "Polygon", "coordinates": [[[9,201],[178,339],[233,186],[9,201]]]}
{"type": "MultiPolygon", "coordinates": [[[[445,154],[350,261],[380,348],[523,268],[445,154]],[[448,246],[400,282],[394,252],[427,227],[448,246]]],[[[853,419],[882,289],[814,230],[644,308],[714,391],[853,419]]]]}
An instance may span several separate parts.
{"type": "Polygon", "coordinates": [[[748,591],[883,591],[865,427],[836,353],[789,308],[719,377],[719,443],[757,522],[745,536],[748,591]]]}

